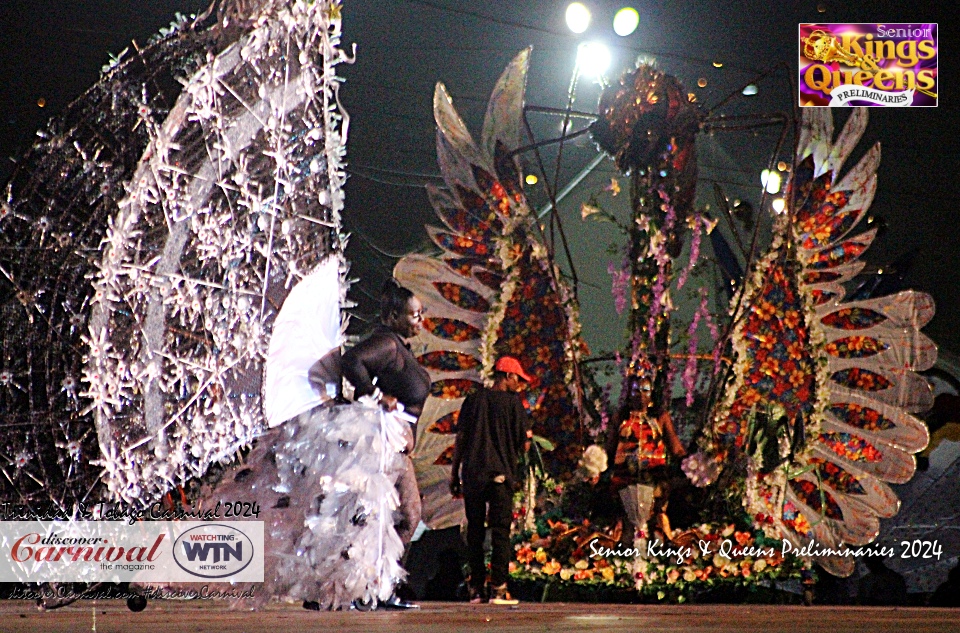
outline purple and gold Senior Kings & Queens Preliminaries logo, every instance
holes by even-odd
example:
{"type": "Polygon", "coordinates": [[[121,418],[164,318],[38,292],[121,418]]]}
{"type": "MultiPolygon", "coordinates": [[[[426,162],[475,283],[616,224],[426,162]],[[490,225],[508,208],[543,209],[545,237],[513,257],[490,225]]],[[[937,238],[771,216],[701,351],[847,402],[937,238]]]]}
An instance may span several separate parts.
{"type": "Polygon", "coordinates": [[[937,105],[936,24],[801,24],[801,106],[937,105]]]}

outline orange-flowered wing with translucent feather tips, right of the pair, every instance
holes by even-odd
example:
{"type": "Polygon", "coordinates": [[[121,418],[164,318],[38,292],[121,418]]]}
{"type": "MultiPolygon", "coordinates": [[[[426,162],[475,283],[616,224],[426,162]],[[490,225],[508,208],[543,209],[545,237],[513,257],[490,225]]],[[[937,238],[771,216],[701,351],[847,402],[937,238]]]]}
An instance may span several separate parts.
{"type": "MultiPolygon", "coordinates": [[[[756,452],[749,458],[745,504],[795,546],[872,542],[879,518],[899,508],[888,484],[912,477],[913,453],[928,440],[913,414],[932,405],[916,373],[936,360],[936,346],[920,332],[932,299],[906,291],[844,301],[843,284],[863,268],[859,257],[876,236],[851,234],[876,191],[879,147],[838,178],[866,119],[865,109],[855,110],[832,142],[830,112],[804,111],[790,221],[758,266],[763,274],[744,288],[735,378],[714,426],[718,445],[750,453],[761,435],[758,410],[789,421],[770,440],[786,463],[770,468],[756,452]]],[[[850,557],[815,558],[833,573],[852,571],[850,557]]]]}

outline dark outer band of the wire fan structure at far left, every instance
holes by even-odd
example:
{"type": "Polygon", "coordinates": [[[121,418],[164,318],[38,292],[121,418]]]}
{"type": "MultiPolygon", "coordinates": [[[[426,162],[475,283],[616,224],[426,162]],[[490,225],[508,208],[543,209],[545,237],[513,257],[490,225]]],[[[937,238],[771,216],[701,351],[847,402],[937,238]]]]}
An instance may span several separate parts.
{"type": "Polygon", "coordinates": [[[52,119],[0,201],[0,498],[70,508],[100,469],[80,383],[93,268],[124,183],[216,34],[180,22],[52,119]]]}

